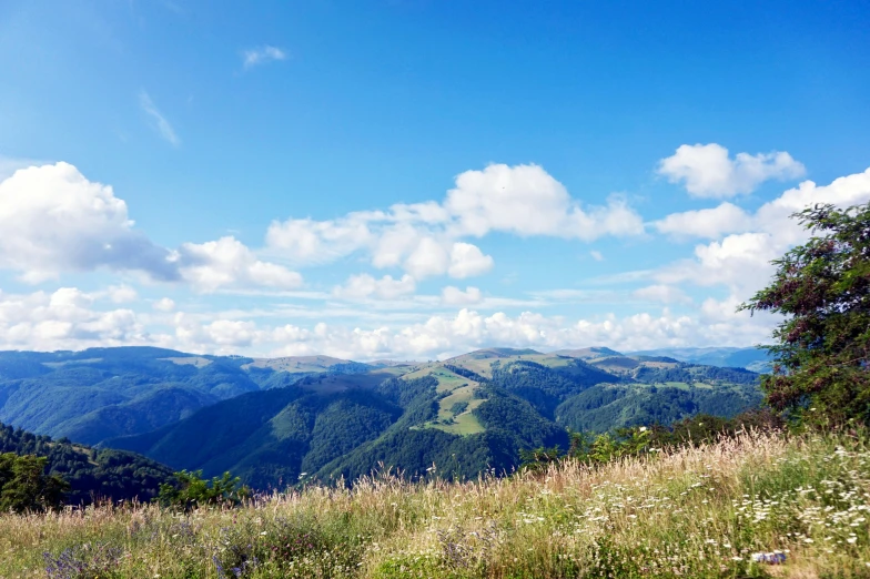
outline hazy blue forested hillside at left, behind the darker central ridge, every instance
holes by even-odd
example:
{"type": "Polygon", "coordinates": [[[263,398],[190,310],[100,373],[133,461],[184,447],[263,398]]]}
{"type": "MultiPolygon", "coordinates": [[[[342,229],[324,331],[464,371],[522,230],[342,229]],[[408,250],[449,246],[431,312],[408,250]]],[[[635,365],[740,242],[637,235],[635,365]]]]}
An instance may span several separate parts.
{"type": "Polygon", "coordinates": [[[367,369],[326,356],[253,359],[151,347],[0,352],[0,420],[98,444],[154,430],[249,392],[367,369]]]}

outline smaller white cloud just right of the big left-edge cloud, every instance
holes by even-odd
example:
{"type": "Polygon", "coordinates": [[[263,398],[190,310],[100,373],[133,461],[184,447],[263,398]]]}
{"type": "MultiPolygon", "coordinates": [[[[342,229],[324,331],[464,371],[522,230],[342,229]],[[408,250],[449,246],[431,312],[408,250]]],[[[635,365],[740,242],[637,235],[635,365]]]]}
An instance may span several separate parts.
{"type": "Polygon", "coordinates": [[[206,243],[185,243],[179,250],[181,275],[203,293],[222,288],[264,286],[294,290],[302,276],[282,265],[262,262],[232,236],[206,243]]]}

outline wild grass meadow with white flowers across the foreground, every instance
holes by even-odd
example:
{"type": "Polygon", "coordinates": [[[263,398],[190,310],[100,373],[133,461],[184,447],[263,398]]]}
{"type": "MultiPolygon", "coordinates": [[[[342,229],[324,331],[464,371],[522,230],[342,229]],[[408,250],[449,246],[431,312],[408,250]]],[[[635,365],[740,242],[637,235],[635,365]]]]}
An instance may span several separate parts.
{"type": "Polygon", "coordinates": [[[0,576],[49,578],[870,577],[870,449],[747,433],[600,468],[353,489],[244,508],[0,517],[0,576]],[[783,565],[753,561],[782,553],[783,565]]]}

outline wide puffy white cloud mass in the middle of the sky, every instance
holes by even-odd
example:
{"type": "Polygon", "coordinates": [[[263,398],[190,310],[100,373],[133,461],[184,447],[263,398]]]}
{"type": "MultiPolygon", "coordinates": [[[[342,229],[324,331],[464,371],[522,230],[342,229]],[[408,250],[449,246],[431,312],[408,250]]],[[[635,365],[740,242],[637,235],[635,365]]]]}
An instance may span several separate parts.
{"type": "Polygon", "coordinates": [[[538,165],[493,164],[458,175],[443,202],[273,222],[266,245],[294,263],[328,263],[362,251],[375,267],[402,267],[417,280],[461,278],[493,267],[492,256],[463,241],[490,232],[591,241],[641,234],[644,223],[620,196],[585,207],[538,165]]]}

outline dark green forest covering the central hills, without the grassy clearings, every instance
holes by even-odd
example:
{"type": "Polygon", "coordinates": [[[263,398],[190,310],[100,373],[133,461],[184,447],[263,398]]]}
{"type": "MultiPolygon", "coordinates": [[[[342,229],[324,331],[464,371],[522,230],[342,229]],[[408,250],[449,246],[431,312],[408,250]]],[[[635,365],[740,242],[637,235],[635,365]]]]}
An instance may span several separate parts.
{"type": "Polygon", "coordinates": [[[620,378],[580,360],[558,368],[508,362],[494,366],[492,382],[465,374],[463,378],[474,378],[479,385],[474,392],[475,404],[465,402],[468,406],[463,408],[459,403],[453,414],[474,406],[472,415],[484,433],[426,428],[437,418],[442,398],[448,394],[438,392],[435,377],[424,376],[391,378],[372,389],[360,386],[334,394],[300,386],[250,393],[160,430],[109,444],[146,454],[176,469],[201,469],[206,477],[230,470],[257,489],[312,479],[344,478],[350,484],[390,468],[412,478],[469,479],[480,473],[509,473],[529,449],[568,448],[565,426],[605,431],[669,424],[707,409],[732,415],[759,399],[753,385],[687,386],[684,390],[625,383],[610,390],[591,384],[604,377],[611,382],[620,378]],[[575,404],[575,398],[580,402],[575,404]],[[549,408],[560,405],[542,413],[536,405],[540,400],[549,408]],[[568,412],[573,405],[583,409],[568,412]],[[548,414],[555,414],[562,425],[548,414]]]}

